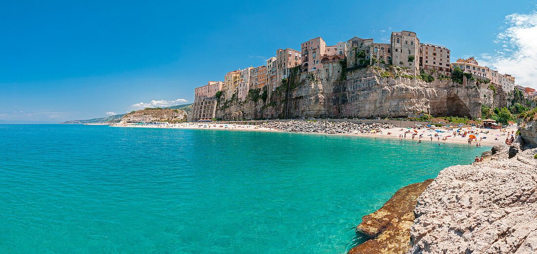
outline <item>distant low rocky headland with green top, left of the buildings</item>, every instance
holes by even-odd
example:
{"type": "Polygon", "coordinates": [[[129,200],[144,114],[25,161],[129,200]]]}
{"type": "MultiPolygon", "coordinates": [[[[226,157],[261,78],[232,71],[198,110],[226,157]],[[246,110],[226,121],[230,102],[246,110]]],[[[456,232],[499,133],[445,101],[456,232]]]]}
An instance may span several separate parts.
{"type": "Polygon", "coordinates": [[[171,108],[146,108],[125,114],[120,124],[127,122],[153,122],[153,121],[183,121],[186,120],[186,111],[171,108]]]}

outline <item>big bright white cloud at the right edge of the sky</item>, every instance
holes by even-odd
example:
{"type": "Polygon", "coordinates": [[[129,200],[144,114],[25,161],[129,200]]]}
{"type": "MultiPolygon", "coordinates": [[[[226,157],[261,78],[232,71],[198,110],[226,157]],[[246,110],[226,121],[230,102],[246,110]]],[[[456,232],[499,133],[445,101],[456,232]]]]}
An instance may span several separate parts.
{"type": "Polygon", "coordinates": [[[505,24],[495,40],[502,49],[495,54],[482,54],[484,61],[480,62],[513,75],[518,85],[537,88],[537,12],[510,14],[505,24]]]}

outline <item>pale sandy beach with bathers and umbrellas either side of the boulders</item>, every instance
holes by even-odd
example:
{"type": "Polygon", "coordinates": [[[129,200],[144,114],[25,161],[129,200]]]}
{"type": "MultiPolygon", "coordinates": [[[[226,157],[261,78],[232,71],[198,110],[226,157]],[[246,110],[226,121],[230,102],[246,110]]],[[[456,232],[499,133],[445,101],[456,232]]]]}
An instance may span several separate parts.
{"type": "MultiPolygon", "coordinates": [[[[182,124],[118,124],[113,127],[132,127],[132,128],[172,128],[172,129],[217,129],[217,130],[243,130],[258,132],[284,132],[276,128],[265,128],[258,125],[237,125],[237,124],[218,124],[218,123],[182,123],[182,124]]],[[[323,135],[345,135],[345,136],[371,136],[387,137],[391,139],[415,140],[416,142],[431,143],[466,143],[468,144],[469,135],[476,138],[472,140],[471,145],[477,143],[481,146],[495,146],[496,144],[505,143],[506,138],[511,138],[511,133],[515,133],[516,126],[508,126],[505,129],[483,129],[476,127],[416,127],[416,128],[387,128],[378,129],[372,132],[354,132],[354,133],[316,133],[323,135]],[[466,132],[466,135],[464,133],[466,132]],[[432,137],[432,139],[431,139],[432,137]]]]}

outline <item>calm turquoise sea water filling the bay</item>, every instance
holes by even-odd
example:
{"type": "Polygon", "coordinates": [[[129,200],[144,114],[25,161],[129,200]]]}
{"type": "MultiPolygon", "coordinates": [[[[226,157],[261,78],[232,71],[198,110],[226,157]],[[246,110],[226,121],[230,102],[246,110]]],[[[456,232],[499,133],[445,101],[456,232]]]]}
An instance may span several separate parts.
{"type": "Polygon", "coordinates": [[[405,185],[489,148],[0,125],[0,253],[342,253],[405,185]]]}

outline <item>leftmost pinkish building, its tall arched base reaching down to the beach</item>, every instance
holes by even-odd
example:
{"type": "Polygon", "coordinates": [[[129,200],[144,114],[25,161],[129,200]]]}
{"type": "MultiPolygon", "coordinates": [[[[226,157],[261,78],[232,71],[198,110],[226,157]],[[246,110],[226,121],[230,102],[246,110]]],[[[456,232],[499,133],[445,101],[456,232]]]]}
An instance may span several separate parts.
{"type": "Polygon", "coordinates": [[[194,103],[187,115],[188,121],[208,120],[215,117],[216,92],[221,91],[224,82],[209,81],[206,85],[194,89],[194,103]]]}

